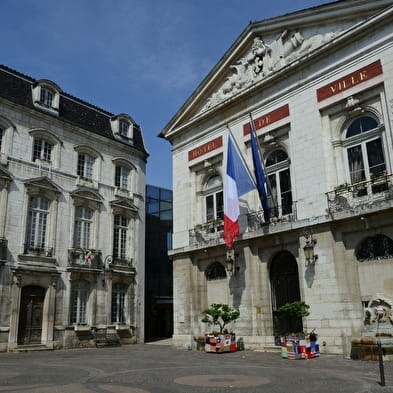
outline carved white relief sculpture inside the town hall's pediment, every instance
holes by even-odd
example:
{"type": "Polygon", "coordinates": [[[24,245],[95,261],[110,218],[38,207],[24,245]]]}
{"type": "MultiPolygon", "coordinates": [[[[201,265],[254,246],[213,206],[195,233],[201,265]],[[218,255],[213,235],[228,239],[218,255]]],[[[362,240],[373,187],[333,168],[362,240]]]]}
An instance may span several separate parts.
{"type": "Polygon", "coordinates": [[[249,52],[230,66],[231,71],[225,81],[209,97],[201,112],[238,94],[336,35],[337,33],[317,34],[305,39],[299,31],[291,33],[284,30],[270,43],[266,43],[261,37],[255,37],[249,52]]]}

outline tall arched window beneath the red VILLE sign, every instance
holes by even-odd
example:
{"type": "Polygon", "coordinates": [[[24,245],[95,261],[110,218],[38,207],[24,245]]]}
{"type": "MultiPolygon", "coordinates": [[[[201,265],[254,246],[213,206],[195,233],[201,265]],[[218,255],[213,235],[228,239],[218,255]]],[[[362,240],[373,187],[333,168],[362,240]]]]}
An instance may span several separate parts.
{"type": "Polygon", "coordinates": [[[352,120],[345,129],[345,138],[351,183],[386,172],[381,133],[376,119],[364,115],[352,120]]]}

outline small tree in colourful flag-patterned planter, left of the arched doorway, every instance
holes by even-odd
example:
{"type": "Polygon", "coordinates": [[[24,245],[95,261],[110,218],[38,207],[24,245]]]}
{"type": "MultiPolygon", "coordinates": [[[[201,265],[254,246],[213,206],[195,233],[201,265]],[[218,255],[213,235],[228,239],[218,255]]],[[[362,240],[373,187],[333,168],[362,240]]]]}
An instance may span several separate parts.
{"type": "Polygon", "coordinates": [[[238,319],[240,311],[230,308],[227,304],[213,303],[202,314],[202,322],[219,327],[219,331],[205,334],[205,351],[214,353],[236,351],[236,335],[229,333],[225,326],[238,319]]]}

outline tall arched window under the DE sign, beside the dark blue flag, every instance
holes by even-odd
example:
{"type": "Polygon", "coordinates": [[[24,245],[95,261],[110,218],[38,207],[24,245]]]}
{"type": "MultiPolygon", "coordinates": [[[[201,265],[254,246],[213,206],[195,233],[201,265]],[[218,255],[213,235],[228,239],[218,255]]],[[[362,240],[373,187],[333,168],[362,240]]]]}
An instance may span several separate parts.
{"type": "Polygon", "coordinates": [[[266,173],[269,182],[269,206],[271,216],[292,213],[291,174],[288,154],[283,149],[273,150],[266,157],[266,173]]]}

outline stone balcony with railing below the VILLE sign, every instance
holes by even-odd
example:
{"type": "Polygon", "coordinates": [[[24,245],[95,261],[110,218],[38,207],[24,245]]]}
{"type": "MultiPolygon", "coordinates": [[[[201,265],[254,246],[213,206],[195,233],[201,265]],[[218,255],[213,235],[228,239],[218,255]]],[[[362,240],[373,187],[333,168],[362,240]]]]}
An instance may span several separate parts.
{"type": "Polygon", "coordinates": [[[393,175],[380,175],[354,184],[342,184],[326,193],[327,212],[336,218],[341,213],[356,214],[392,207],[393,175]],[[386,205],[386,207],[384,207],[386,205]]]}

